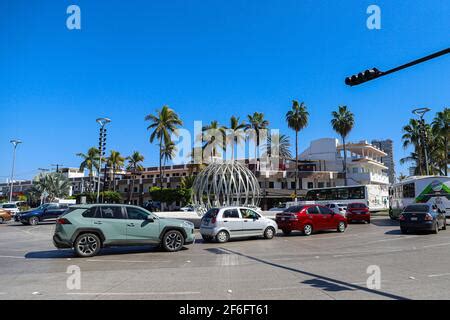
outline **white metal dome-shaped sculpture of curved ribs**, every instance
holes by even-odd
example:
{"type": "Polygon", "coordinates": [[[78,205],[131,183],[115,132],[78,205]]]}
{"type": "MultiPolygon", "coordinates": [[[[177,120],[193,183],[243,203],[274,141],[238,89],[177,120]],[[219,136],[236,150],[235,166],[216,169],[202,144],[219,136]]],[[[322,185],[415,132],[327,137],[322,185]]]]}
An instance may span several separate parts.
{"type": "Polygon", "coordinates": [[[203,209],[257,206],[260,188],[255,175],[237,161],[214,160],[195,177],[194,205],[203,209]]]}

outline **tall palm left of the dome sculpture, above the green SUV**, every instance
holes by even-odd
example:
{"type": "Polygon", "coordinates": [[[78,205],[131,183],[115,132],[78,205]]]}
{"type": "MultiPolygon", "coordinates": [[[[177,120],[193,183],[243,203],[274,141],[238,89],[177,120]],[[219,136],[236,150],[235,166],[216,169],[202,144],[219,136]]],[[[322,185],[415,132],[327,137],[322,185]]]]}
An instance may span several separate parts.
{"type": "Polygon", "coordinates": [[[150,143],[156,139],[159,140],[159,184],[162,189],[162,148],[164,142],[170,141],[170,134],[176,133],[177,128],[183,125],[178,114],[164,105],[160,110],[156,110],[156,114],[145,116],[145,121],[150,121],[147,130],[153,129],[150,135],[150,143]]]}

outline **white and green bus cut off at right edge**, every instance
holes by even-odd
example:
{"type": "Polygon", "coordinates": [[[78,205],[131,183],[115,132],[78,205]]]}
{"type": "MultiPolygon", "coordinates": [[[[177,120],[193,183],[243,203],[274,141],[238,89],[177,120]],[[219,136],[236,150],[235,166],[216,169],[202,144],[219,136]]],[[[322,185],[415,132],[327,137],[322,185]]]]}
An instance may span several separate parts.
{"type": "Polygon", "coordinates": [[[450,217],[450,177],[413,176],[392,185],[389,190],[389,216],[397,219],[407,205],[433,203],[450,217]]]}

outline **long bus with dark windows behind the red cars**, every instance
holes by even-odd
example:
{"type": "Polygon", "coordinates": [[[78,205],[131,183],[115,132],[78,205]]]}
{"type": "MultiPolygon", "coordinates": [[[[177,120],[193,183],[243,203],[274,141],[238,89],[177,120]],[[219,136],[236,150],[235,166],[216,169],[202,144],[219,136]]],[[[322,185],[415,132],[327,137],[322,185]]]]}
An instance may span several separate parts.
{"type": "Polygon", "coordinates": [[[304,201],[288,202],[287,207],[302,204],[326,205],[331,202],[349,204],[361,202],[372,212],[389,209],[388,185],[367,184],[347,187],[310,189],[304,201]]]}

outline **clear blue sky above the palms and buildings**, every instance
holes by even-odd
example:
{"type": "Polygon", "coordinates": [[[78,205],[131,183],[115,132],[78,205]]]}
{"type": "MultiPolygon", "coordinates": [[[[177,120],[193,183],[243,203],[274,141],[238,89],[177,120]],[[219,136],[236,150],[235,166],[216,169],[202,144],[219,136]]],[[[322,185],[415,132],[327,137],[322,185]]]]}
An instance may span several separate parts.
{"type": "MultiPolygon", "coordinates": [[[[263,112],[293,137],[284,116],[304,101],[310,140],[333,137],[330,113],[356,116],[350,140],[394,140],[413,107],[450,102],[450,57],[350,88],[345,76],[382,70],[449,47],[450,3],[442,1],[0,1],[0,181],[52,163],[78,166],[77,152],[98,142],[109,116],[108,149],[139,150],[157,163],[144,116],[168,104],[186,128],[227,124],[263,112]],[[382,10],[382,29],[366,28],[366,8],[382,10]],[[82,30],[66,28],[66,8],[81,8],[82,30]]],[[[428,117],[430,120],[431,117],[428,117]]],[[[398,170],[399,171],[399,170],[398,170]]]]}

